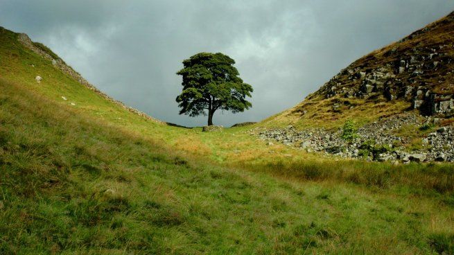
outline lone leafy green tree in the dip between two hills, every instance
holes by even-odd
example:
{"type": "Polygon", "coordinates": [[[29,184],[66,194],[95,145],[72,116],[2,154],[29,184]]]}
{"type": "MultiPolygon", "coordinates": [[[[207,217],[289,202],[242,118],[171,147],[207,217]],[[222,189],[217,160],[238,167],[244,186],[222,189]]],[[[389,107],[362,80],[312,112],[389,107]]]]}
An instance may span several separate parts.
{"type": "Polygon", "coordinates": [[[253,91],[239,78],[233,66],[235,60],[222,53],[198,53],[183,61],[183,91],[177,96],[180,114],[191,117],[208,114],[208,125],[213,125],[217,109],[243,112],[252,107],[245,98],[253,91]]]}

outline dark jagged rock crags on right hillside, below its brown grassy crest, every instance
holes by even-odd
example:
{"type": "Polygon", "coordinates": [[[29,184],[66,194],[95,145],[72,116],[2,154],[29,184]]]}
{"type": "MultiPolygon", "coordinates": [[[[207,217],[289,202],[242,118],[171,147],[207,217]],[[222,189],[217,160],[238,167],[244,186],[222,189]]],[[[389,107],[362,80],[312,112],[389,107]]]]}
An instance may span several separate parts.
{"type": "Polygon", "coordinates": [[[374,69],[349,67],[334,76],[318,93],[324,94],[325,98],[339,95],[364,99],[381,94],[387,100],[406,100],[413,109],[421,109],[426,115],[451,116],[454,113],[454,94],[435,93],[431,91],[433,85],[424,81],[426,77],[435,76],[433,72],[442,65],[451,67],[454,63],[451,55],[439,53],[439,49],[445,47],[453,48],[453,44],[438,49],[414,49],[412,55],[390,60],[374,69]]]}

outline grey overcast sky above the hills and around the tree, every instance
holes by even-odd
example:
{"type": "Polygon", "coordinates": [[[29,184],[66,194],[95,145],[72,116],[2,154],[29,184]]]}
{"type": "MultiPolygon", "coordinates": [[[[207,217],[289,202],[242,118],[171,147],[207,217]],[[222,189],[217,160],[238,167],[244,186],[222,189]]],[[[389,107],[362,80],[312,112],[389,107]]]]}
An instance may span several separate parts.
{"type": "Polygon", "coordinates": [[[182,60],[222,52],[252,87],[260,121],[293,107],[340,69],[454,10],[452,0],[0,0],[0,26],[49,46],[98,89],[155,118],[178,115],[182,60]]]}

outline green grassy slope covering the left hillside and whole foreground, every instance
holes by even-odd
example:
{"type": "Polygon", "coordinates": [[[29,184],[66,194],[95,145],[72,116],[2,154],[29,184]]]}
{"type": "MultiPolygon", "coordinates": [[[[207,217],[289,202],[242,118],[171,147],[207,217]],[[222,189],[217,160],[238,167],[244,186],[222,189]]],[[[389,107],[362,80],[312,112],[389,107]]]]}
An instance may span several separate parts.
{"type": "Polygon", "coordinates": [[[314,161],[246,128],[146,121],[8,32],[0,62],[0,253],[453,251],[449,166],[314,161]]]}

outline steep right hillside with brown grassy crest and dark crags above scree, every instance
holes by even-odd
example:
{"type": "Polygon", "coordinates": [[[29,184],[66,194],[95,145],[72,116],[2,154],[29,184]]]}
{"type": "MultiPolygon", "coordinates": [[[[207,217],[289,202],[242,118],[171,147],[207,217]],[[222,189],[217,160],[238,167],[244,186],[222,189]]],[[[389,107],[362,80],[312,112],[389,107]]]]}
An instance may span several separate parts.
{"type": "MultiPolygon", "coordinates": [[[[421,114],[454,114],[454,12],[366,55],[308,96],[405,100],[421,114]]],[[[335,105],[333,105],[335,108],[335,105]]]]}

